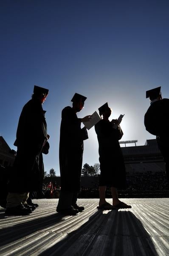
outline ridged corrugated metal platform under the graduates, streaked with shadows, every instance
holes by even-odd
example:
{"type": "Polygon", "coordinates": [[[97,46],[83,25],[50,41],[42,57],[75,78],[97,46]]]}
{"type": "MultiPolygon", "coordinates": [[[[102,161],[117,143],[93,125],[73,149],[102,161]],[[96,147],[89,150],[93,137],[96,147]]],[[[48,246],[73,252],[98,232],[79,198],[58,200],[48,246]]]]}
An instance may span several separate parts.
{"type": "Polygon", "coordinates": [[[58,199],[34,200],[27,216],[0,207],[0,255],[169,256],[169,198],[123,199],[132,208],[112,211],[98,201],[79,199],[85,211],[75,216],[56,213],[58,199]]]}

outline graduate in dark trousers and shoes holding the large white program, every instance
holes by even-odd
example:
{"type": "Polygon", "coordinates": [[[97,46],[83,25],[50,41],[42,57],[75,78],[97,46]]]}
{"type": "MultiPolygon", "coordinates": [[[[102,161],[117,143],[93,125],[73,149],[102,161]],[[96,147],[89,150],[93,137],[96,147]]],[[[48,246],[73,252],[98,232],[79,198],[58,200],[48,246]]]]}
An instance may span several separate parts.
{"type": "Polygon", "coordinates": [[[78,118],[87,98],[75,93],[71,102],[73,107],[62,110],[60,127],[59,164],[61,176],[61,192],[56,211],[68,215],[84,210],[76,204],[80,189],[82,171],[83,140],[88,138],[86,128],[81,129],[81,122],[89,121],[89,116],[78,118]]]}

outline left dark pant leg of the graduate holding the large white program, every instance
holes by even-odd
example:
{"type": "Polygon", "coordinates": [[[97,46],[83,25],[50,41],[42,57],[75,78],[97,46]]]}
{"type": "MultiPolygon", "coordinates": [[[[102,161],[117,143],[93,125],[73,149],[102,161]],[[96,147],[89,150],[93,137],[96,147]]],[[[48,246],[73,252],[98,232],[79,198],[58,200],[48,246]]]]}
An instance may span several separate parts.
{"type": "Polygon", "coordinates": [[[60,192],[59,202],[57,205],[57,210],[69,209],[72,207],[73,192],[62,191],[60,192]]]}

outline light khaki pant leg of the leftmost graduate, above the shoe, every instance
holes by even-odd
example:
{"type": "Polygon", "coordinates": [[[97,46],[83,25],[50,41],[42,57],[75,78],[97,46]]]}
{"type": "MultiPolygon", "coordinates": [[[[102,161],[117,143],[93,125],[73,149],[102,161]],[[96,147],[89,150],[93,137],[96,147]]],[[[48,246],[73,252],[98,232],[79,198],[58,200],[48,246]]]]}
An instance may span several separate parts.
{"type": "Polygon", "coordinates": [[[25,198],[28,197],[28,192],[24,193],[14,193],[14,192],[9,192],[7,195],[7,204],[6,208],[11,208],[11,207],[16,207],[25,201],[25,198]]]}

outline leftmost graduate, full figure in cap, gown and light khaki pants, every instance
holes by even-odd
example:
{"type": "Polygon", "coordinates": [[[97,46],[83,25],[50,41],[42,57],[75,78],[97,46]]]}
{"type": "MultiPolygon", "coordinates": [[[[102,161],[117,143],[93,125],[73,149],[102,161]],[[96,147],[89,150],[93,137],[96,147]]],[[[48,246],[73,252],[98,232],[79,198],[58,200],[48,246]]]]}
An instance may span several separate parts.
{"type": "Polygon", "coordinates": [[[42,151],[49,138],[42,104],[47,95],[48,89],[35,85],[32,99],[25,104],[20,114],[14,143],[17,155],[7,196],[6,214],[9,215],[29,214],[33,208],[26,204],[28,192],[42,187],[42,151]]]}

